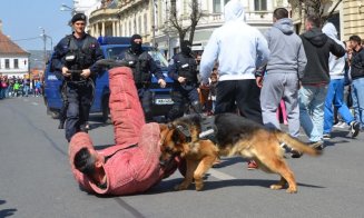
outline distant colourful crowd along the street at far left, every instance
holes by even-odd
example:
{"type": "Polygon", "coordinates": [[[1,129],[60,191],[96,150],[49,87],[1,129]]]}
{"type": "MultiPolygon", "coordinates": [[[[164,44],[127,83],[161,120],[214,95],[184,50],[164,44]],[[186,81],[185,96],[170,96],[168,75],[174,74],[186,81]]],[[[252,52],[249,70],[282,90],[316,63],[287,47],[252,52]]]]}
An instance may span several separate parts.
{"type": "Polygon", "coordinates": [[[11,97],[28,97],[30,93],[39,97],[42,95],[41,87],[40,80],[31,81],[26,77],[8,77],[0,73],[0,100],[11,97]]]}

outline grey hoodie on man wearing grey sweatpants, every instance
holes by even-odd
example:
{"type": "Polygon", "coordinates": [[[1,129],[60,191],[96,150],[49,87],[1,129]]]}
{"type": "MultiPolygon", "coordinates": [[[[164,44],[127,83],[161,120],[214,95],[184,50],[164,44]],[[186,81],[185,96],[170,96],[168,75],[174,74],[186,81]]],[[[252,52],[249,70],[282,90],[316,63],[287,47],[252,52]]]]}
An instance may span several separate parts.
{"type": "Polygon", "coordinates": [[[307,59],[301,38],[294,32],[292,20],[277,20],[266,32],[266,39],[270,50],[267,73],[297,73],[302,79],[307,59]]]}

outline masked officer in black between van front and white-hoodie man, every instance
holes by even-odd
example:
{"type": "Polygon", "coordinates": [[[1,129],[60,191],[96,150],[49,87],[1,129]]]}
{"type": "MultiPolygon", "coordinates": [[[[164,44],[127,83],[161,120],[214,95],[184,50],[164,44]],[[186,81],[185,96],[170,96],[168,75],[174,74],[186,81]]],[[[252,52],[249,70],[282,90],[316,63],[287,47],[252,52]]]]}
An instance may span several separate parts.
{"type": "Polygon", "coordinates": [[[173,57],[168,67],[168,76],[175,80],[171,99],[175,102],[168,112],[169,121],[184,116],[186,103],[190,103],[196,113],[201,113],[198,98],[197,62],[191,54],[191,44],[185,40],[180,52],[173,57]]]}

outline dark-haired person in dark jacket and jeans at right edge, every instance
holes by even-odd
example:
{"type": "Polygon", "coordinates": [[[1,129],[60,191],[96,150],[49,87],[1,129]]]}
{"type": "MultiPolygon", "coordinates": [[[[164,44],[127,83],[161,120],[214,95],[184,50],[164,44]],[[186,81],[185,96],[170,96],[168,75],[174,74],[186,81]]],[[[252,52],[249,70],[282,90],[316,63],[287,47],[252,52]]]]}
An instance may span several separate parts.
{"type": "Polygon", "coordinates": [[[353,48],[351,61],[352,99],[355,112],[355,120],[360,128],[364,127],[364,49],[361,46],[362,39],[358,36],[350,37],[353,48]]]}

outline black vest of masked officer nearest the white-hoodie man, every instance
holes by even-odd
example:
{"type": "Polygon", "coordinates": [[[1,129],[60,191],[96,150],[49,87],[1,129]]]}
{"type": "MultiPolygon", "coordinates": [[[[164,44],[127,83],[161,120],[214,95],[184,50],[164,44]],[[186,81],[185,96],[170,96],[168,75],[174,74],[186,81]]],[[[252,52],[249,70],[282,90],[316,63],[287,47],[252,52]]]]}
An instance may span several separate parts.
{"type": "Polygon", "coordinates": [[[185,77],[187,82],[197,82],[197,65],[193,57],[184,56],[183,53],[176,54],[176,67],[179,77],[185,77]]]}

